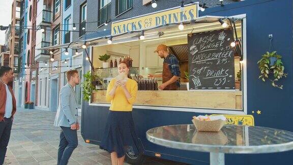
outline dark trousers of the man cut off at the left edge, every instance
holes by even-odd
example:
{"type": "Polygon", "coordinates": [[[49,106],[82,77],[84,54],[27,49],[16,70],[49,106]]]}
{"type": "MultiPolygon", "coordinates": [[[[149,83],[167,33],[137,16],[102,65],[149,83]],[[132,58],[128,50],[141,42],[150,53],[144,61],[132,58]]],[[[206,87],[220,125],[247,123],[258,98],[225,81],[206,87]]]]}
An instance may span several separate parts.
{"type": "Polygon", "coordinates": [[[10,139],[11,127],[11,117],[4,118],[4,121],[0,122],[0,164],[4,163],[7,146],[10,139]]]}

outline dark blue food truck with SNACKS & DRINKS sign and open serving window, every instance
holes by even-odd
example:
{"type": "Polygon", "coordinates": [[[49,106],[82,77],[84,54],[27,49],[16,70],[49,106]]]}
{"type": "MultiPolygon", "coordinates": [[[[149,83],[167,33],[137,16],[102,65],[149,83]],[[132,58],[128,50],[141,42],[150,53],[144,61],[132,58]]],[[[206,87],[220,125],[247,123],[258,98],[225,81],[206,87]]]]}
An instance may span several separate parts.
{"type": "MultiPolygon", "coordinates": [[[[247,125],[244,117],[251,115],[255,126],[293,131],[289,123],[293,115],[292,6],[288,0],[254,0],[201,12],[198,4],[190,4],[184,11],[179,6],[114,21],[111,34],[87,36],[89,47],[84,59],[88,56],[92,64],[83,60],[83,73],[91,71],[102,83],[96,84],[89,102],[82,102],[84,141],[96,145],[101,142],[110,106],[105,100],[106,87],[118,74],[115,61],[131,61],[130,74],[138,82],[162,84],[160,78],[148,78],[148,74],[162,73],[163,59],[154,52],[159,44],[167,45],[178,58],[181,87],[177,91],[140,88],[132,114],[142,153],[130,151],[126,155],[128,162],[139,163],[148,155],[189,164],[209,163],[209,153],[166,148],[149,142],[145,136],[154,127],[192,124],[192,117],[198,115],[240,116],[241,120],[229,118],[227,122],[247,125]],[[257,62],[267,51],[282,56],[287,74],[274,81],[275,86],[259,77],[257,62]],[[98,60],[103,54],[110,55],[112,67],[103,68],[98,60]]],[[[245,137],[235,138],[245,143],[245,137]]],[[[292,155],[292,151],[226,154],[225,160],[227,164],[287,164],[292,155]]]]}

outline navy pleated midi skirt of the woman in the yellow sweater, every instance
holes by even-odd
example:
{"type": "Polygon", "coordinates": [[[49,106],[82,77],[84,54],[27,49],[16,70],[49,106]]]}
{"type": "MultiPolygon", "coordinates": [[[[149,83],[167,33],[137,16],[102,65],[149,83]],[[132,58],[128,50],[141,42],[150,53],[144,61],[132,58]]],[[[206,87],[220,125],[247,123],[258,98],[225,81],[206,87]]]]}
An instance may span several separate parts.
{"type": "Polygon", "coordinates": [[[109,111],[100,148],[116,152],[118,158],[125,153],[139,155],[138,139],[131,112],[109,111]]]}

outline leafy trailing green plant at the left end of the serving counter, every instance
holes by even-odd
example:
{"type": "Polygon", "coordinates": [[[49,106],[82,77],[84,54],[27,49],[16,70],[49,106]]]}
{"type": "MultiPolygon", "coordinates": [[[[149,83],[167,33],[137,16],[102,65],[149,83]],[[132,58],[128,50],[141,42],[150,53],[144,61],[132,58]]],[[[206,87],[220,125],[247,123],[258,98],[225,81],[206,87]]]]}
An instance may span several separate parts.
{"type": "Polygon", "coordinates": [[[103,89],[103,81],[98,75],[93,75],[91,71],[87,71],[83,74],[84,81],[82,82],[82,94],[85,101],[90,101],[92,93],[96,89],[103,89]]]}

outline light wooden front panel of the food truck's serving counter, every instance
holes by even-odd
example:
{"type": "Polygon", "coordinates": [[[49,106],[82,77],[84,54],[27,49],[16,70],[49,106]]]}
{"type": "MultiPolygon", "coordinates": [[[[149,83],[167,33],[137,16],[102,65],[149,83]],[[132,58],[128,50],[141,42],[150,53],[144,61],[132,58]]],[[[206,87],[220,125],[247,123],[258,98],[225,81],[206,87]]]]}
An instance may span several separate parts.
{"type": "MultiPolygon", "coordinates": [[[[93,103],[106,103],[106,90],[93,93],[93,103]]],[[[138,91],[135,105],[242,110],[241,91],[138,91]]]]}

